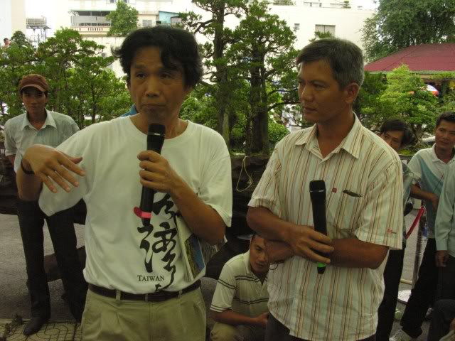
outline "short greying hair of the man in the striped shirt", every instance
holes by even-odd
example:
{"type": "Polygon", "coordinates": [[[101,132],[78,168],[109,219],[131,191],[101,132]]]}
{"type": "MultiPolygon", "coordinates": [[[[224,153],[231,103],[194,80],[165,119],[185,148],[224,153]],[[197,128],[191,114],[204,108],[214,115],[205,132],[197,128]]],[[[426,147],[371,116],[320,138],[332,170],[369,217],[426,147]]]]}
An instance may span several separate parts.
{"type": "Polygon", "coordinates": [[[301,63],[319,60],[325,60],[330,65],[333,78],[338,82],[340,89],[344,89],[350,83],[362,86],[365,77],[363,54],[354,43],[338,38],[316,40],[300,51],[296,64],[299,66],[301,63]]]}

